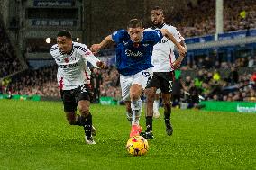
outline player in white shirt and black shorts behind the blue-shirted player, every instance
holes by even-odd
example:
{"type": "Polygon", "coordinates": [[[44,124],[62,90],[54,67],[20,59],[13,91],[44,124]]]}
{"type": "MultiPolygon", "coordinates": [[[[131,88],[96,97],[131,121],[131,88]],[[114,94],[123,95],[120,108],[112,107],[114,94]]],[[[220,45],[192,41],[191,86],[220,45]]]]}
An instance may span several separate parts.
{"type": "MultiPolygon", "coordinates": [[[[163,10],[156,6],[151,10],[151,22],[153,26],[145,31],[151,30],[168,30],[174,38],[185,48],[186,44],[184,38],[180,35],[179,31],[164,22],[163,10]]],[[[142,132],[142,136],[147,139],[152,139],[152,116],[153,116],[153,102],[157,89],[160,89],[162,93],[162,100],[164,105],[164,122],[166,125],[166,132],[170,136],[172,134],[172,125],[170,123],[171,112],[171,91],[172,81],[174,78],[174,70],[177,69],[185,53],[180,53],[176,59],[174,56],[174,44],[172,41],[163,37],[156,45],[154,45],[152,52],[152,64],[153,64],[153,77],[150,83],[147,85],[145,94],[147,97],[147,110],[146,110],[146,127],[147,130],[142,132]]]]}

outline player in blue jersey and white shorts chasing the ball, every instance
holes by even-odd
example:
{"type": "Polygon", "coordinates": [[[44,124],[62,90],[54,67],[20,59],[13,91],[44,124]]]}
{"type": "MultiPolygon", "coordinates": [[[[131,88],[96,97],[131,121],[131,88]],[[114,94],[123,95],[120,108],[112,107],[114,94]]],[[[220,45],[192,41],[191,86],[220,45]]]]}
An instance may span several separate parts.
{"type": "Polygon", "coordinates": [[[132,115],[130,137],[140,135],[142,131],[139,125],[142,111],[141,95],[153,75],[151,64],[153,46],[165,36],[177,46],[179,53],[186,53],[186,49],[166,29],[143,30],[142,21],[133,19],[127,23],[127,30],[114,31],[102,42],[91,47],[91,51],[96,53],[113,42],[117,45],[116,67],[120,74],[122,97],[126,111],[132,115]]]}

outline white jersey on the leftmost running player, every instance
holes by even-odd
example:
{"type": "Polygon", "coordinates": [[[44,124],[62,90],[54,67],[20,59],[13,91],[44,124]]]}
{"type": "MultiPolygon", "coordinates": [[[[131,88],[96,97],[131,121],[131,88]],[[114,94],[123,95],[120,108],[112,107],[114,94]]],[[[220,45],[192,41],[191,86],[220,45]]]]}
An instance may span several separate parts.
{"type": "MultiPolygon", "coordinates": [[[[87,84],[90,74],[87,58],[96,58],[85,44],[73,42],[70,54],[63,54],[57,44],[50,48],[50,54],[58,65],[57,80],[59,88],[71,90],[87,84]]],[[[92,63],[94,67],[95,63],[92,63]]]]}

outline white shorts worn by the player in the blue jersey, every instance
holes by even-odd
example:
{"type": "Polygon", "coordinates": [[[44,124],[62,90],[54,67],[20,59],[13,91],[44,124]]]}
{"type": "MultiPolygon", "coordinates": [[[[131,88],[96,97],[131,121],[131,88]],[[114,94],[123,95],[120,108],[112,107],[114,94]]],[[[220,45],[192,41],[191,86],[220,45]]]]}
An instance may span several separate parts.
{"type": "Polygon", "coordinates": [[[151,81],[153,76],[152,68],[143,70],[135,75],[123,76],[120,75],[120,85],[122,89],[123,101],[130,101],[130,87],[133,84],[138,84],[142,86],[144,90],[148,83],[151,81]]]}

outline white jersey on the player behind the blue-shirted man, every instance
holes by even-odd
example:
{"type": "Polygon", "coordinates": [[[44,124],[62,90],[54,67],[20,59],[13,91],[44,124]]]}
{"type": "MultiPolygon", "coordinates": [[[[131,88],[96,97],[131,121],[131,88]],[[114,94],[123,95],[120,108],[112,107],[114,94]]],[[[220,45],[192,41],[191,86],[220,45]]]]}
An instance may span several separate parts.
{"type": "MultiPolygon", "coordinates": [[[[163,23],[161,28],[156,28],[155,30],[167,29],[173,37],[180,42],[184,40],[176,27],[163,23]]],[[[146,29],[145,31],[154,30],[152,27],[146,29]]],[[[173,71],[172,63],[176,60],[174,56],[174,43],[166,37],[163,37],[156,45],[152,52],[152,65],[153,72],[169,72],[173,71]]]]}

